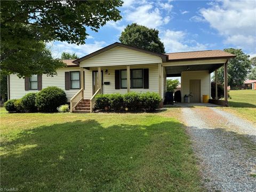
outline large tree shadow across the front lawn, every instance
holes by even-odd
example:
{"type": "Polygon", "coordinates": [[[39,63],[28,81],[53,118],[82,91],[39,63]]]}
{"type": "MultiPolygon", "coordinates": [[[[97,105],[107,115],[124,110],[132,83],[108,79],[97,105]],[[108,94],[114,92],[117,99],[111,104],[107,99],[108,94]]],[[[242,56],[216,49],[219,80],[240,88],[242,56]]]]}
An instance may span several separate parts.
{"type": "MultiPolygon", "coordinates": [[[[177,122],[162,121],[149,126],[102,127],[99,122],[88,120],[23,131],[16,140],[2,143],[6,154],[1,157],[1,188],[146,190],[170,187],[175,177],[177,181],[186,175],[189,180],[196,180],[195,167],[191,173],[180,172],[181,166],[192,161],[187,158],[193,155],[181,126],[177,122]],[[167,162],[175,164],[173,175],[167,171],[170,169],[166,167],[167,162]]],[[[191,164],[194,166],[195,162],[191,164]]],[[[183,187],[193,187],[193,184],[183,187]]]]}

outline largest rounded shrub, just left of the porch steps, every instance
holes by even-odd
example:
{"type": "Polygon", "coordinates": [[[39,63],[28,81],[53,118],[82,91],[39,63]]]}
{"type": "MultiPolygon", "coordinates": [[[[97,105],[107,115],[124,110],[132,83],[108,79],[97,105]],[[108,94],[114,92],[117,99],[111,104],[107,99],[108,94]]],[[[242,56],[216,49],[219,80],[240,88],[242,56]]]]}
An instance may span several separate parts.
{"type": "Polygon", "coordinates": [[[67,103],[67,97],[62,89],[49,86],[37,93],[35,102],[39,111],[54,112],[57,107],[67,103]]]}

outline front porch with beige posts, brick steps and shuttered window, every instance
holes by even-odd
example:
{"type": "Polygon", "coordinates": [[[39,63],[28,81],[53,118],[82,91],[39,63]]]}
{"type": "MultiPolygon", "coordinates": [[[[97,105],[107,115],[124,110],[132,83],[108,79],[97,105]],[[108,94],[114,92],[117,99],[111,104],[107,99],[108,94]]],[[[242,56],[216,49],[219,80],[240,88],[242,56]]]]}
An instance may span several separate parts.
{"type": "Polygon", "coordinates": [[[162,63],[98,67],[82,67],[81,65],[80,71],[82,89],[70,99],[71,112],[84,109],[84,113],[92,113],[97,94],[155,92],[161,95],[162,100],[164,98],[162,63]],[[85,101],[89,102],[90,106],[80,105],[85,101]]]}

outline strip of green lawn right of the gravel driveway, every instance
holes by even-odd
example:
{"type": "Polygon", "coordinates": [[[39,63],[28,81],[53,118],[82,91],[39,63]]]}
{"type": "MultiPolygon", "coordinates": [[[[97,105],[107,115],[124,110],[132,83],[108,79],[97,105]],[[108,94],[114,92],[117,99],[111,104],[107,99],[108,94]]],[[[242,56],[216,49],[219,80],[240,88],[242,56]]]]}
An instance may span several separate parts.
{"type": "Polygon", "coordinates": [[[227,110],[256,123],[256,90],[231,90],[227,110]]]}

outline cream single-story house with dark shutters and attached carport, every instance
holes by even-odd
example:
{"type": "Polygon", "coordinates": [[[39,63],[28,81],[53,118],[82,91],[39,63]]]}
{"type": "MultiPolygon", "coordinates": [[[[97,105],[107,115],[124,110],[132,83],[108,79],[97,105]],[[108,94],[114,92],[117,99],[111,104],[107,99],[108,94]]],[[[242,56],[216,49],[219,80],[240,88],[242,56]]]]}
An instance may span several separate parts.
{"type": "Polygon", "coordinates": [[[234,57],[220,50],[158,54],[114,43],[77,60],[63,60],[67,67],[53,77],[10,75],[9,99],[58,86],[71,101],[71,110],[82,99],[92,108],[94,95],[100,93],[156,92],[164,100],[166,77],[181,77],[182,102],[185,94],[193,95],[190,102],[202,102],[203,94],[211,95],[210,74],[223,65],[227,72],[227,61],[234,57]]]}

